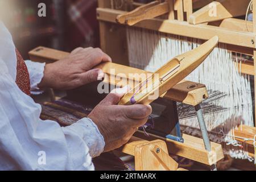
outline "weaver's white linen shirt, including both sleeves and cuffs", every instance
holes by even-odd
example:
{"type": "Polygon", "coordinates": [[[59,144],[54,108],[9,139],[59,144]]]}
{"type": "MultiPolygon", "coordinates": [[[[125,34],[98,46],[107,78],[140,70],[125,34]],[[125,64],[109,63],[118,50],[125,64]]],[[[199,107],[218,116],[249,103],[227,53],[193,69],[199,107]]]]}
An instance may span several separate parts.
{"type": "MultiPolygon", "coordinates": [[[[44,64],[26,64],[36,90],[44,64]]],[[[67,127],[42,121],[41,106],[18,88],[15,78],[15,46],[0,21],[0,170],[93,170],[92,158],[105,142],[92,120],[67,127]]]]}

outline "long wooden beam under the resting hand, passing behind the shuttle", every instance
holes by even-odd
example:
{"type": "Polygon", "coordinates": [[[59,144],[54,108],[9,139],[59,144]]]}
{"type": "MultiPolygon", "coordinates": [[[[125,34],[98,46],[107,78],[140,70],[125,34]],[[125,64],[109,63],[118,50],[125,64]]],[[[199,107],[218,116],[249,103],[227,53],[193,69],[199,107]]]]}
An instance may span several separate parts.
{"type": "MultiPolygon", "coordinates": [[[[29,52],[30,59],[32,61],[39,61],[51,63],[52,61],[63,59],[69,55],[68,52],[57,51],[46,47],[38,47],[29,52]]],[[[141,80],[138,75],[134,77],[129,76],[131,73],[150,73],[137,68],[127,67],[121,64],[105,63],[98,65],[97,68],[102,69],[106,73],[105,82],[108,82],[117,86],[125,86],[129,82],[130,86],[137,85],[141,80]],[[113,73],[114,71],[114,73],[113,73]],[[125,76],[130,80],[121,79],[118,75],[125,76]],[[112,78],[114,77],[114,79],[112,78]]],[[[195,106],[200,104],[205,98],[208,97],[207,89],[205,85],[196,82],[183,80],[179,84],[175,85],[170,91],[164,93],[161,97],[169,100],[183,102],[184,104],[195,106]]]]}

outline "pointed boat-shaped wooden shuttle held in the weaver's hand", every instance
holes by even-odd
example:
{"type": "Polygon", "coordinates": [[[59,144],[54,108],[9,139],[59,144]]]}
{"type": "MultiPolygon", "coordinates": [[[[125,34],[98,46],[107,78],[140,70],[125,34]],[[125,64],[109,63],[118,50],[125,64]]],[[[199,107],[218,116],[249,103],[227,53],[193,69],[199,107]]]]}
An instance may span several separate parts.
{"type": "Polygon", "coordinates": [[[170,60],[167,64],[163,65],[158,71],[156,71],[150,80],[151,84],[147,84],[148,78],[140,82],[135,88],[131,89],[118,103],[119,105],[133,105],[133,104],[150,104],[152,101],[156,100],[163,93],[170,90],[173,86],[187,77],[192,71],[194,71],[207,56],[212,52],[213,48],[218,44],[218,36],[214,36],[212,39],[208,40],[201,46],[193,49],[192,51],[183,53],[182,55],[176,56],[174,59],[170,60]],[[178,62],[179,70],[173,75],[167,78],[166,81],[162,82],[160,80],[155,80],[154,77],[164,75],[168,70],[174,68],[178,62]],[[153,78],[153,79],[152,79],[153,78]],[[145,85],[143,89],[142,86],[145,85]],[[151,86],[154,85],[154,86],[151,86]],[[139,89],[139,92],[138,92],[139,89]],[[152,97],[153,96],[153,97],[152,97]]]}

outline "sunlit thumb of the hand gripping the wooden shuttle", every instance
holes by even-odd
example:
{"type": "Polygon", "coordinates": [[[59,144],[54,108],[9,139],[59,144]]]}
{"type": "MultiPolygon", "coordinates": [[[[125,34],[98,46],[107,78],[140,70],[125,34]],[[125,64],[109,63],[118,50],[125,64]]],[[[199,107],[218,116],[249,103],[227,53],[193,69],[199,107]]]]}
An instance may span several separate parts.
{"type": "Polygon", "coordinates": [[[108,96],[105,97],[104,100],[101,101],[101,105],[109,106],[109,105],[116,105],[121,100],[121,98],[130,90],[130,86],[126,85],[123,88],[118,88],[112,90],[108,94],[108,96]]]}

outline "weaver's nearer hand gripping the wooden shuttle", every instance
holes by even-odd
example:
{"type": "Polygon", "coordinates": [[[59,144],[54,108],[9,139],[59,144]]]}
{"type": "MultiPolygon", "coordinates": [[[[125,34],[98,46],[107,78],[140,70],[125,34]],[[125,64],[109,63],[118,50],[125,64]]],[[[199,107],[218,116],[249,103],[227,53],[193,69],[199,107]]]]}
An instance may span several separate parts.
{"type": "Polygon", "coordinates": [[[128,88],[115,89],[88,115],[105,139],[104,152],[123,146],[151,114],[150,105],[117,105],[128,88]]]}

